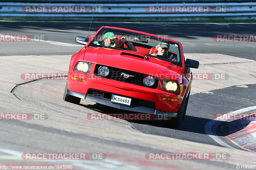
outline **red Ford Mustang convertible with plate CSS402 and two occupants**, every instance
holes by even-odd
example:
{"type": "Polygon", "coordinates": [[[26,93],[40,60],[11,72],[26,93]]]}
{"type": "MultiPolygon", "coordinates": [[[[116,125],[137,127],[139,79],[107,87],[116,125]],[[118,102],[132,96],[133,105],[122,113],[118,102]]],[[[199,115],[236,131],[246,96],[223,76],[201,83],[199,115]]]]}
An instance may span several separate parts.
{"type": "Polygon", "coordinates": [[[180,42],[110,26],[75,42],[85,46],[71,57],[63,100],[167,114],[168,124],[180,127],[193,79],[190,68],[199,67],[198,61],[185,60],[180,42]]]}

